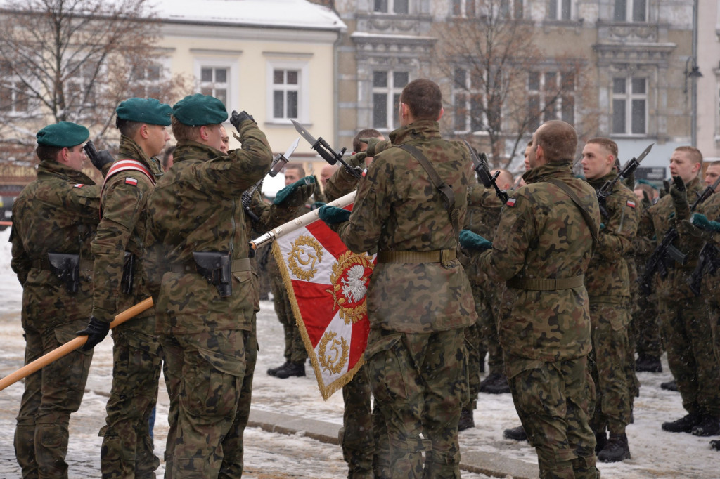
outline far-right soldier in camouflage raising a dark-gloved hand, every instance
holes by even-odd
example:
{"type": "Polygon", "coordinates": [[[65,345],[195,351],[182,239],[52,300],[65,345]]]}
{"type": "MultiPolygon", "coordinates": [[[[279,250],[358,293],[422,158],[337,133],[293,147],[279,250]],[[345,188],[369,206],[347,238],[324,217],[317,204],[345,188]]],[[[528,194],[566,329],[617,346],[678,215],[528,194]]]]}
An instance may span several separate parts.
{"type": "MultiPolygon", "coordinates": [[[[667,349],[667,363],[675,377],[683,407],[688,414],[662,424],[669,432],[691,432],[696,436],[720,434],[720,368],[708,338],[711,337],[708,310],[688,286],[690,274],[698,263],[702,242],[683,234],[682,220],[690,217],[689,199],[702,191],[698,173],[703,156],[695,147],[678,147],[670,158],[670,173],[675,183],[670,194],[647,210],[638,237],[646,242],[660,241],[670,227],[678,227],[680,238],[674,246],[688,255],[685,265],[667,260],[667,277],[655,275],[660,299],[660,317],[667,349]]],[[[702,208],[702,206],[700,206],[702,208]]],[[[702,210],[701,210],[702,211],[702,210]]],[[[651,242],[652,244],[652,242],[651,242]]]]}

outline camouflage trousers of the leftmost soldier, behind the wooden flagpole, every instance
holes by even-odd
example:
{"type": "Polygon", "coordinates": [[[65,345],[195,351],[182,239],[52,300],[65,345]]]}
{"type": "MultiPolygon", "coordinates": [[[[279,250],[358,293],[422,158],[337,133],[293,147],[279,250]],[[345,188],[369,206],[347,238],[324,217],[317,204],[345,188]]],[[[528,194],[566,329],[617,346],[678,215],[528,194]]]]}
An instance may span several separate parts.
{"type": "MultiPolygon", "coordinates": [[[[25,325],[25,364],[76,337],[87,319],[57,327],[25,325]]],[[[74,350],[25,378],[14,447],[23,478],[67,478],[68,423],[80,408],[92,351],[74,350]]]]}

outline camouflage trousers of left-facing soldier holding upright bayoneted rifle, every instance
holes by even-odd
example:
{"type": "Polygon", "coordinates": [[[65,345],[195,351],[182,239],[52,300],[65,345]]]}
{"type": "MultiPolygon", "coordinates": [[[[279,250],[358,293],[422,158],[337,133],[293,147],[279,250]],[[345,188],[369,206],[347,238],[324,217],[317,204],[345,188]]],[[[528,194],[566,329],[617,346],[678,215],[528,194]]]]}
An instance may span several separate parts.
{"type": "Polygon", "coordinates": [[[626,368],[629,314],[625,306],[590,300],[593,350],[588,358],[588,370],[597,393],[590,426],[595,433],[607,429],[611,434],[623,434],[625,426],[630,424],[631,384],[626,368]]]}

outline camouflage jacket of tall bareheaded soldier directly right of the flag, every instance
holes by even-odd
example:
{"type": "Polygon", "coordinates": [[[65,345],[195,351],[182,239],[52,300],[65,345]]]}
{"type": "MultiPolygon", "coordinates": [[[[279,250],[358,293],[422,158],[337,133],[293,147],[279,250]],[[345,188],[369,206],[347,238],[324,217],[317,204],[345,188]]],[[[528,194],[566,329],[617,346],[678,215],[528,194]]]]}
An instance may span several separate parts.
{"type": "MultiPolygon", "coordinates": [[[[422,151],[455,194],[462,227],[472,162],[462,142],[440,136],[437,122],[418,121],[390,134],[392,145],[422,151]]],[[[359,181],[353,211],[338,234],[354,252],[454,250],[454,232],[441,194],[408,152],[391,147],[375,155],[359,181]]],[[[476,321],[470,285],[462,265],[378,263],[367,291],[372,327],[426,333],[476,321]]]]}

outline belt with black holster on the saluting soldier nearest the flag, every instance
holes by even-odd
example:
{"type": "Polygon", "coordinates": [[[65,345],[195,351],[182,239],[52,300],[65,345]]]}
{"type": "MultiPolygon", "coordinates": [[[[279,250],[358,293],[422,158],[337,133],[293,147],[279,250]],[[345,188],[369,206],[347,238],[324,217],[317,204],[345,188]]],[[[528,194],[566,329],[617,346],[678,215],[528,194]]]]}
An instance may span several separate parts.
{"type": "Polygon", "coordinates": [[[208,283],[217,287],[220,297],[224,298],[233,293],[232,273],[250,271],[252,269],[250,258],[230,260],[230,253],[215,251],[193,251],[194,261],[175,263],[170,265],[171,273],[197,273],[202,275],[208,283]]]}

